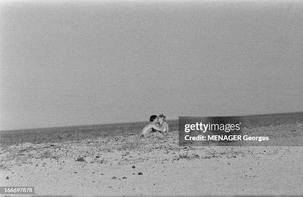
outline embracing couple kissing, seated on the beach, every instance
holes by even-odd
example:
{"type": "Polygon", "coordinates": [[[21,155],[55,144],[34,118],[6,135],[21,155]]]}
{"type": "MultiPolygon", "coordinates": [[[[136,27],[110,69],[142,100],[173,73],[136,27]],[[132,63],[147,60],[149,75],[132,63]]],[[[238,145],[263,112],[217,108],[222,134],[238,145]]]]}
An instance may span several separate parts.
{"type": "Polygon", "coordinates": [[[163,114],[160,114],[158,117],[156,115],[151,116],[150,123],[142,130],[142,136],[150,132],[169,132],[166,117],[163,114]]]}

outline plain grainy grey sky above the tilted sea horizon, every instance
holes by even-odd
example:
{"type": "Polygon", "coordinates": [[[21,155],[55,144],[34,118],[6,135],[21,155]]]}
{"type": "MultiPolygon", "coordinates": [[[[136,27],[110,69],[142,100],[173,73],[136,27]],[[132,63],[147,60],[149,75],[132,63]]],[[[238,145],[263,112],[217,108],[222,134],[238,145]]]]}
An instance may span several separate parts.
{"type": "Polygon", "coordinates": [[[303,1],[2,1],[0,130],[303,111],[303,1]]]}

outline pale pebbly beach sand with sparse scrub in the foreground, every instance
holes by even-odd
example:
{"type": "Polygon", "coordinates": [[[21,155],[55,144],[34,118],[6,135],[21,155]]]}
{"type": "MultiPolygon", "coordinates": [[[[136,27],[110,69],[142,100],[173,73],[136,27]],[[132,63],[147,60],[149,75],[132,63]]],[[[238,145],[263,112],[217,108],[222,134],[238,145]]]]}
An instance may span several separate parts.
{"type": "MultiPolygon", "coordinates": [[[[303,131],[252,129],[281,126],[303,131]]],[[[179,147],[178,131],[22,143],[0,149],[0,185],[34,186],[34,196],[302,196],[302,155],[303,147],[179,147]]]]}

